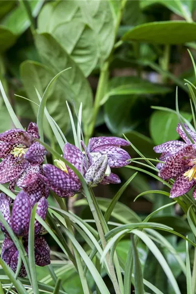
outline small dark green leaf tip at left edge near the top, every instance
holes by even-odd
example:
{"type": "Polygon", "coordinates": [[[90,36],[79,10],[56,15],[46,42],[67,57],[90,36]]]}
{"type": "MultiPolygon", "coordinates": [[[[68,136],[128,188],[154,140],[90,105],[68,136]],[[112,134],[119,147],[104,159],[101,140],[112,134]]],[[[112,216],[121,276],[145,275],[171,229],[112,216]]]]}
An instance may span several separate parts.
{"type": "Polygon", "coordinates": [[[10,48],[16,42],[16,36],[3,25],[0,25],[0,52],[10,48]]]}

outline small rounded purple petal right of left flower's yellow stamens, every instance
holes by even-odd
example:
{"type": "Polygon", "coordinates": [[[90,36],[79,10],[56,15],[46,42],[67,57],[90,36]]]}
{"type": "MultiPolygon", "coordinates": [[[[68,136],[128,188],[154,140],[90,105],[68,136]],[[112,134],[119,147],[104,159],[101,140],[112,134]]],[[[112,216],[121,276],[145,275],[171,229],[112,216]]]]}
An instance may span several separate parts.
{"type": "Polygon", "coordinates": [[[39,144],[39,142],[33,143],[25,153],[25,159],[32,165],[41,164],[44,161],[44,156],[46,155],[46,149],[39,144]]]}

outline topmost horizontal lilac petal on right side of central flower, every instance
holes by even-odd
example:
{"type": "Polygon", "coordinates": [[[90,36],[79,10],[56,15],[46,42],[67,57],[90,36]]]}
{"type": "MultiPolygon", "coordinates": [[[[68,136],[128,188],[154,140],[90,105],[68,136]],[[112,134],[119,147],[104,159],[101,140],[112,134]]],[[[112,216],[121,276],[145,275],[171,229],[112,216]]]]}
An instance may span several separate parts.
{"type": "Polygon", "coordinates": [[[88,150],[89,152],[97,152],[97,147],[106,146],[129,146],[130,143],[126,140],[118,137],[94,137],[89,140],[88,150]]]}

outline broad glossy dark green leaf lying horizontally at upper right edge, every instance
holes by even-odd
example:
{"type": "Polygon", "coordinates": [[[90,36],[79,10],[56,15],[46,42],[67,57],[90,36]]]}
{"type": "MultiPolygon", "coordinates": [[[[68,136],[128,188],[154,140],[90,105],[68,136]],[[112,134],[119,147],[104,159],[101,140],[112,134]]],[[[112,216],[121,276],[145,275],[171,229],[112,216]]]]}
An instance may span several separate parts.
{"type": "Polygon", "coordinates": [[[195,41],[195,23],[184,21],[153,22],[135,26],[124,34],[124,41],[183,44],[195,41]]]}

